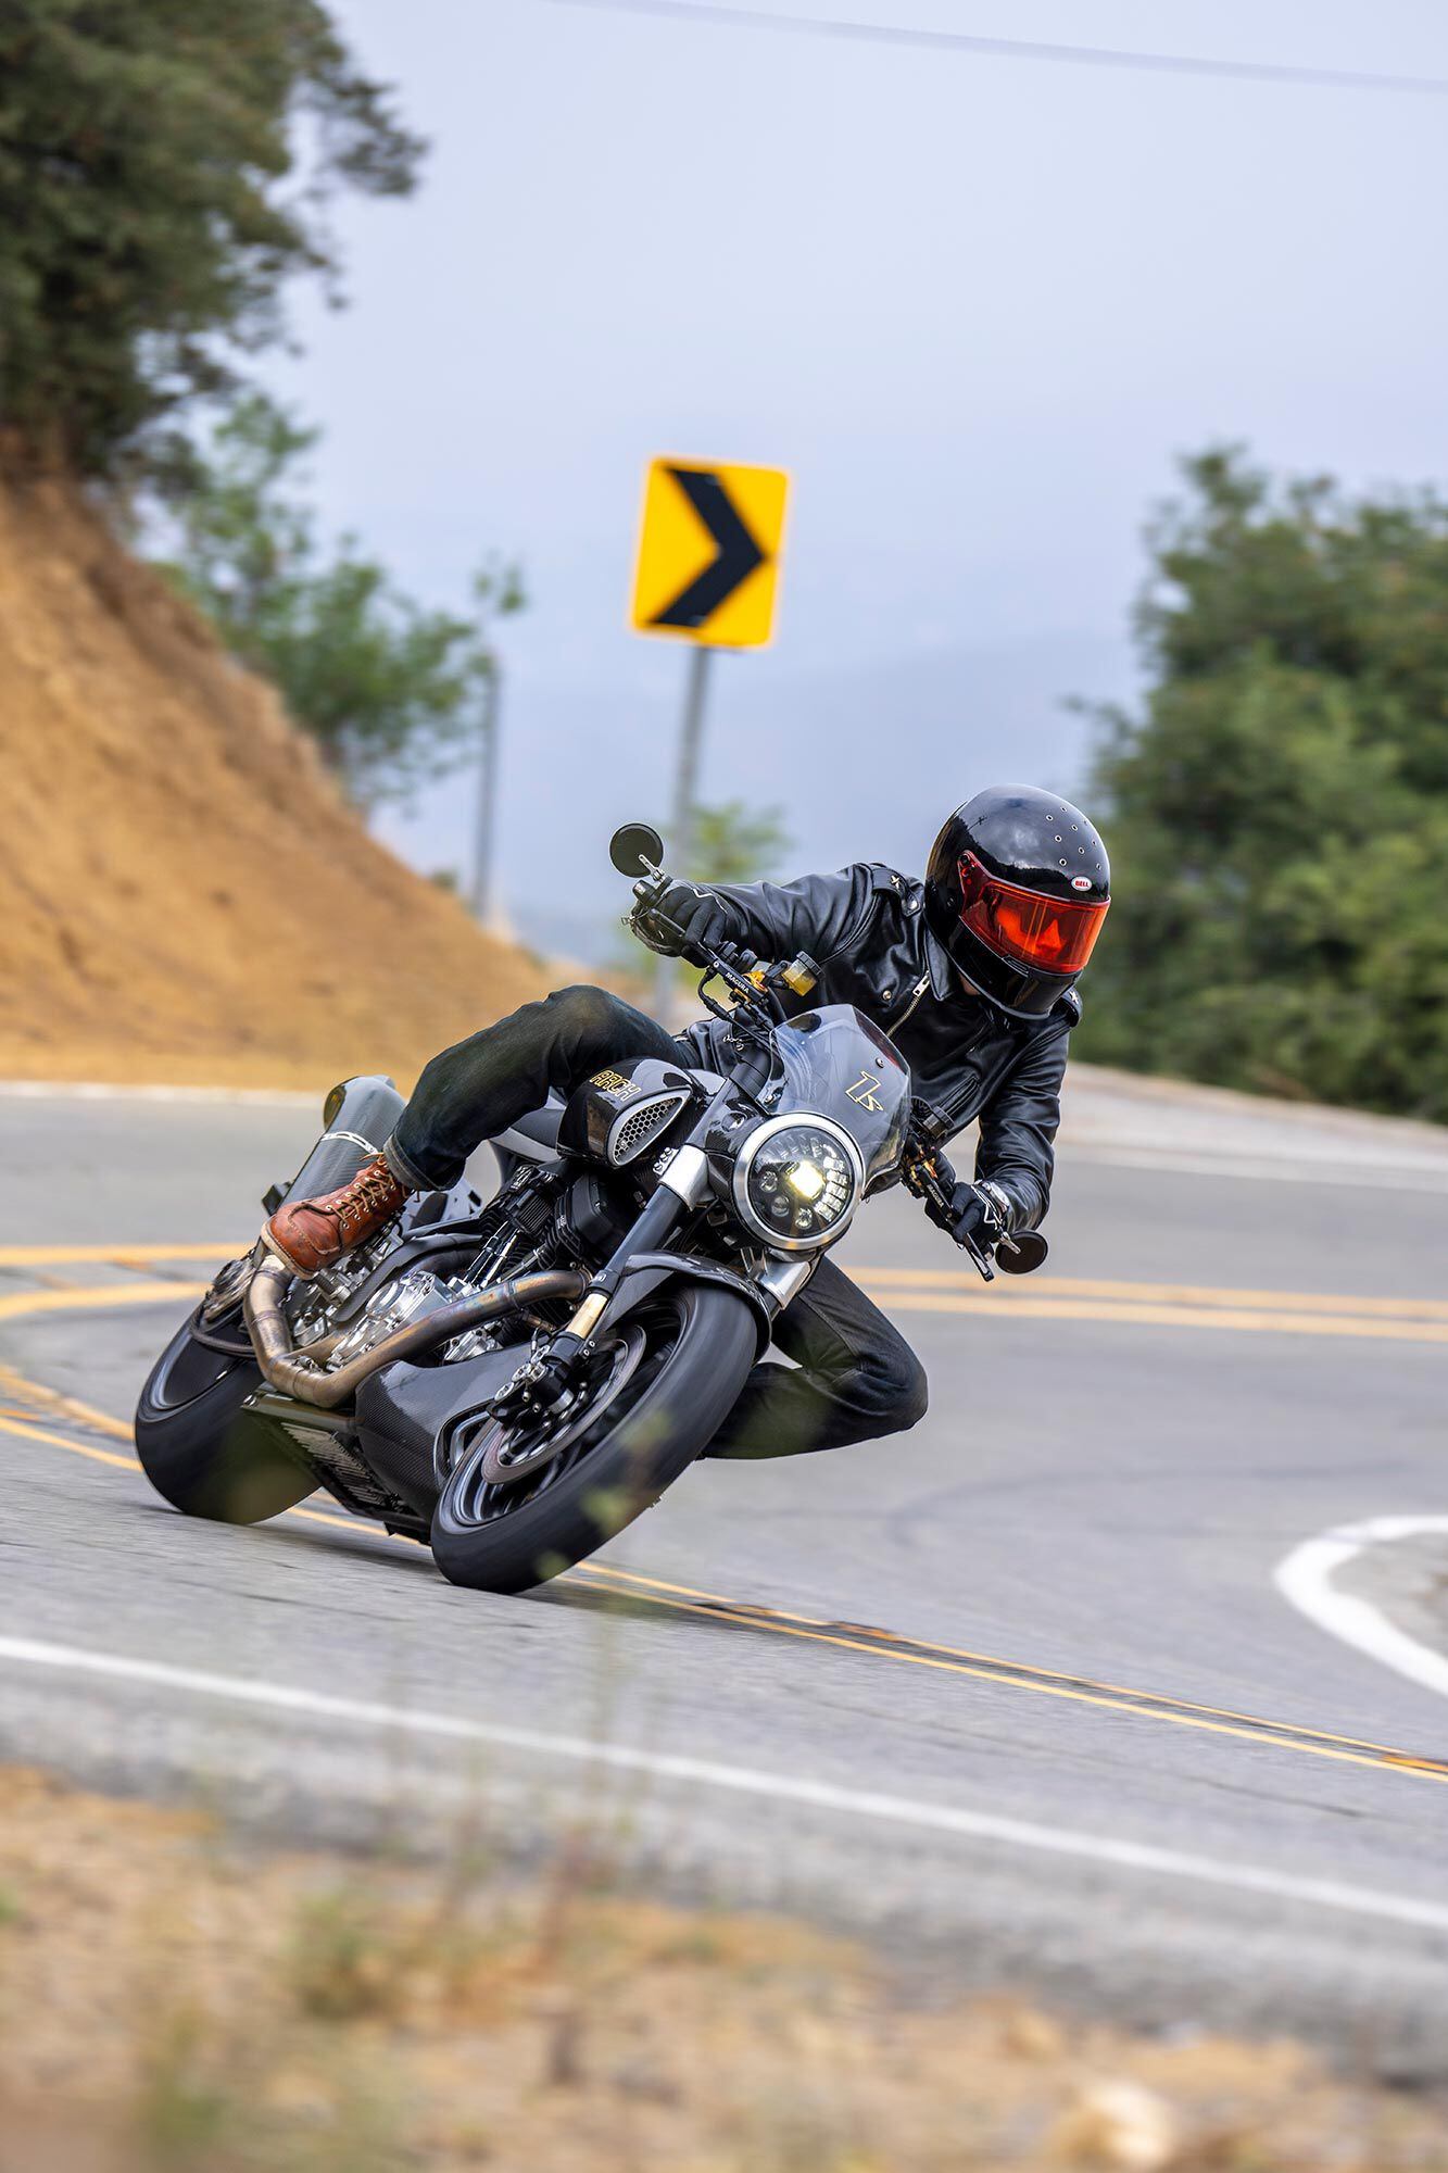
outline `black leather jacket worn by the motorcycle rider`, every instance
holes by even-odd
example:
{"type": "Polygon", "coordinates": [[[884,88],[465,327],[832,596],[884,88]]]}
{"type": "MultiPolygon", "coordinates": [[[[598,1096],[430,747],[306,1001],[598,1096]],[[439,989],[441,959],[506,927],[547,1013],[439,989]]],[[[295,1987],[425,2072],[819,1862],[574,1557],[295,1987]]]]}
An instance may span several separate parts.
{"type": "MultiPolygon", "coordinates": [[[[1044,1019],[987,1004],[926,928],[924,884],[894,867],[859,861],[837,876],[707,889],[724,913],[722,934],[761,958],[809,952],[820,965],[820,987],[794,1010],[854,1004],[907,1058],[915,1095],[950,1110],[952,1132],[978,1121],[976,1178],[1011,1195],[1018,1226],[1039,1223],[1078,995],[1063,995],[1044,1019]]],[[[698,1063],[720,1063],[717,1032],[704,1021],[683,1037],[698,1063]]]]}

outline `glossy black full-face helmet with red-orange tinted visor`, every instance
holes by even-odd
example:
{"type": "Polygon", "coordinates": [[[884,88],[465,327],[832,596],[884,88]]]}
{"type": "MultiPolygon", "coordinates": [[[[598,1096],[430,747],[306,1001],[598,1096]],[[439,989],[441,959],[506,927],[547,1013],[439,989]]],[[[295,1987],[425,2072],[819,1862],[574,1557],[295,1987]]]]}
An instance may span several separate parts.
{"type": "Polygon", "coordinates": [[[1081,808],[1035,784],[989,784],[935,839],[926,917],[965,980],[1044,1019],[1091,956],[1111,863],[1081,808]]]}

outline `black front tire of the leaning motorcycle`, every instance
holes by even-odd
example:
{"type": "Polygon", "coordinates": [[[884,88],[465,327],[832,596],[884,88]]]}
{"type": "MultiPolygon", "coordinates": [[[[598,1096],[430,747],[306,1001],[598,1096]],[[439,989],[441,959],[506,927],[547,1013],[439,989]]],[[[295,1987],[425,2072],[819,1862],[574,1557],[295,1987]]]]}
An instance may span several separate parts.
{"type": "Polygon", "coordinates": [[[463,1449],[433,1515],[433,1556],[450,1584],[546,1584],[641,1517],[720,1430],[754,1365],[748,1304],[717,1284],[676,1282],[637,1319],[648,1358],[622,1417],[611,1406],[596,1439],[515,1489],[483,1484],[487,1434],[463,1449]]]}

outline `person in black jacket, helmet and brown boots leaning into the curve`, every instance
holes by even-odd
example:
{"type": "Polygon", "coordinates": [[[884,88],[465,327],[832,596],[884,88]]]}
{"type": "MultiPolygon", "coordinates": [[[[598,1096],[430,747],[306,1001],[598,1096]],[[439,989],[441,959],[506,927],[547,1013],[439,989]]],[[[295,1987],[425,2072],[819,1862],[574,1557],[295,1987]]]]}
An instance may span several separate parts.
{"type": "MultiPolygon", "coordinates": [[[[807,952],[809,1004],[854,1004],[885,1028],[946,1130],[981,1128],[974,1182],[954,1186],[954,1236],[991,1247],[1046,1215],[1076,976],[1111,897],[1107,847],[1057,793],[998,784],[935,839],[924,882],[876,863],[774,884],[672,882],[639,932],[654,950],[807,952]],[[678,934],[683,930],[683,934],[678,934]]],[[[800,1002],[798,1008],[804,1008],[800,1002]]],[[[372,1236],[409,1193],[457,1184],[480,1145],[609,1063],[720,1067],[715,1023],[667,1034],[604,989],[561,989],[430,1060],[383,1154],[322,1199],[285,1202],[265,1241],[313,1276],[372,1236]]],[[[796,1367],[754,1367],[711,1456],[791,1456],[915,1425],[924,1367],[833,1260],[778,1317],[796,1367]]]]}

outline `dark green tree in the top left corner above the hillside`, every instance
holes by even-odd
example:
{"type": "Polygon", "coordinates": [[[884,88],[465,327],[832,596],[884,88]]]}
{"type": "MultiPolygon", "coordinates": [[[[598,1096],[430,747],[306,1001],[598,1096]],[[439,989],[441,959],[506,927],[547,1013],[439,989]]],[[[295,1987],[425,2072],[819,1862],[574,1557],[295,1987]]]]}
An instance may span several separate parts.
{"type": "Polygon", "coordinates": [[[33,454],[154,474],[278,296],[337,296],[322,206],[404,196],[422,143],[320,0],[7,0],[0,409],[33,454]]]}

